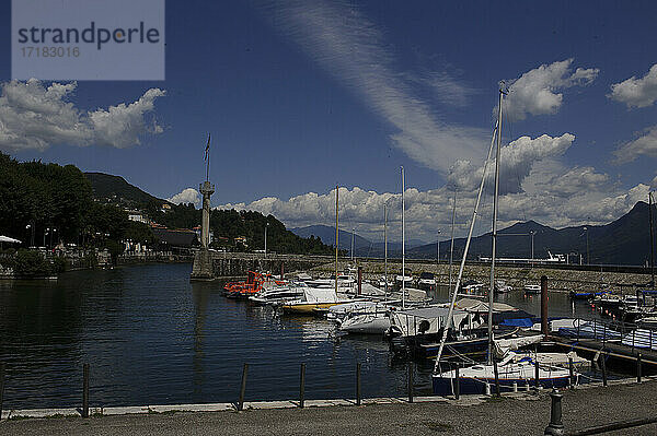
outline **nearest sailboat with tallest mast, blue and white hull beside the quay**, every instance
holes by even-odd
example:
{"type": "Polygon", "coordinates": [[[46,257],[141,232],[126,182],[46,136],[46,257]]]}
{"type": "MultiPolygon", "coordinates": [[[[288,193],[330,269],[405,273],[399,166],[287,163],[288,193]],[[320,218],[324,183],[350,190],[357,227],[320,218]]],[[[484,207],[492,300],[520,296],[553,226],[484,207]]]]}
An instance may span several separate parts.
{"type": "MultiPolygon", "coordinates": [[[[502,121],[503,121],[503,102],[504,102],[504,82],[499,87],[499,103],[498,103],[498,116],[497,123],[495,126],[493,138],[491,140],[491,148],[488,150],[488,157],[484,163],[484,170],[482,176],[482,181],[480,184],[479,193],[474,207],[474,211],[472,214],[472,220],[470,223],[470,231],[468,234],[468,240],[465,243],[465,249],[463,252],[463,258],[461,260],[461,267],[459,269],[459,275],[457,278],[457,284],[454,286],[451,304],[449,306],[449,314],[447,316],[447,326],[442,329],[442,339],[440,341],[440,345],[438,349],[438,354],[436,356],[436,362],[434,366],[434,375],[433,379],[433,388],[434,393],[436,394],[446,394],[450,393],[450,390],[453,392],[453,380],[457,377],[456,370],[441,372],[440,370],[440,358],[442,357],[442,353],[445,350],[448,331],[450,330],[450,326],[453,321],[453,313],[454,313],[454,303],[457,298],[457,291],[459,290],[459,285],[463,274],[463,268],[465,266],[465,258],[468,256],[468,249],[470,247],[470,241],[472,239],[472,232],[474,229],[474,223],[476,220],[477,209],[481,202],[481,197],[486,179],[486,169],[488,163],[491,162],[491,157],[493,154],[493,148],[495,142],[497,142],[496,153],[495,153],[495,193],[493,197],[493,241],[492,241],[492,257],[491,257],[491,287],[488,292],[488,320],[487,320],[487,332],[488,332],[488,347],[487,347],[487,362],[486,364],[475,364],[473,366],[461,369],[459,374],[459,384],[461,388],[461,393],[485,393],[486,386],[488,386],[491,380],[495,378],[498,379],[499,386],[509,387],[514,384],[517,386],[518,384],[525,382],[527,386],[533,380],[534,385],[542,386],[551,386],[551,387],[561,387],[565,386],[570,381],[570,374],[567,369],[556,367],[556,366],[548,366],[540,365],[537,362],[533,362],[531,357],[525,356],[520,360],[515,360],[516,355],[512,352],[507,352],[503,357],[502,362],[495,364],[494,360],[494,346],[495,346],[495,335],[493,329],[493,296],[495,288],[495,251],[496,251],[496,243],[497,243],[497,210],[498,210],[498,197],[499,197],[499,155],[502,149],[502,121]],[[497,139],[497,141],[495,141],[497,139]],[[538,368],[538,370],[537,370],[538,368]],[[497,377],[495,377],[495,373],[497,373],[497,377]],[[538,374],[537,374],[538,373],[538,374]]],[[[514,339],[509,339],[514,341],[514,339]]],[[[522,342],[526,340],[525,338],[515,339],[515,341],[522,342]]],[[[519,345],[518,345],[519,346],[519,345]]]]}

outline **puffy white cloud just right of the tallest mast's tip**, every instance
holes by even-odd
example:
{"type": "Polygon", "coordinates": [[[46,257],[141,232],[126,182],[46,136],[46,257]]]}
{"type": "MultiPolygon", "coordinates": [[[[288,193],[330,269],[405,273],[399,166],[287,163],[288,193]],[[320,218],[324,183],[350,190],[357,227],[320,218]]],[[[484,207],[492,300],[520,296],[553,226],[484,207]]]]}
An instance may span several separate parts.
{"type": "MultiPolygon", "coordinates": [[[[597,68],[572,69],[573,59],[542,64],[519,79],[507,81],[506,115],[522,120],[528,115],[555,114],[563,103],[560,91],[590,84],[600,72],[597,68]]],[[[497,109],[494,109],[495,114],[497,109]]]]}

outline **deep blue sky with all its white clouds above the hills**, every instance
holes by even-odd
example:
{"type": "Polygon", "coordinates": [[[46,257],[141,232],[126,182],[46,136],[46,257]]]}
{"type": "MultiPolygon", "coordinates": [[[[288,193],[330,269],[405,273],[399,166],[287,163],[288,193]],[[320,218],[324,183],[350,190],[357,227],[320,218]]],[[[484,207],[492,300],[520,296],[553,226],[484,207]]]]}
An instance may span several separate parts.
{"type": "MultiPolygon", "coordinates": [[[[140,144],[44,135],[39,148],[0,138],[0,149],[170,198],[198,187],[210,132],[214,205],[331,224],[339,184],[345,225],[372,239],[383,202],[399,215],[403,165],[410,232],[430,240],[448,233],[449,180],[465,227],[504,79],[502,221],[604,223],[644,199],[657,173],[656,12],[654,2],[170,0],[165,81],[80,81],[62,97],[89,114],[160,90],[131,115],[140,144]],[[512,142],[520,137],[529,140],[512,142]]],[[[0,20],[4,94],[10,14],[0,20]]],[[[0,101],[0,121],[2,105],[11,102],[0,101]]]]}

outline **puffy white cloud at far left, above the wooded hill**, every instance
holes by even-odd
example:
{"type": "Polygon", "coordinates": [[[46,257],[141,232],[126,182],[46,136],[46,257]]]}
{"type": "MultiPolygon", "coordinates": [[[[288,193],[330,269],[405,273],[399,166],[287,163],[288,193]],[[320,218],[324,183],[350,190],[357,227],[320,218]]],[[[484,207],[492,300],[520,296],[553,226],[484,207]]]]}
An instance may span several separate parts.
{"type": "Polygon", "coordinates": [[[78,109],[69,97],[76,82],[11,81],[2,83],[0,95],[0,148],[44,151],[53,144],[87,146],[104,144],[116,148],[138,145],[147,133],[161,133],[154,119],[147,121],[153,102],[164,91],[148,90],[137,102],[93,111],[78,109]]]}

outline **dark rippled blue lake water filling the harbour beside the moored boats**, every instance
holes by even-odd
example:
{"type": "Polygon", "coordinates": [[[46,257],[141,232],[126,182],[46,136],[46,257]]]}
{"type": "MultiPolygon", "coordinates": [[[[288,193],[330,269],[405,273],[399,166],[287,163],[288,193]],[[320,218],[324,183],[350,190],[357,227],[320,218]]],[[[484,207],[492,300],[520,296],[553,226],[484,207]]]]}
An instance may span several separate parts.
{"type": "MultiPolygon", "coordinates": [[[[405,363],[379,338],[338,338],[333,323],[280,315],[223,297],[220,282],[189,282],[191,264],[73,271],[57,281],[0,281],[4,409],[79,406],[82,364],[90,404],[232,402],[242,364],[246,400],[298,398],[304,362],[308,399],[404,396],[405,363]]],[[[446,301],[447,291],[437,299],[446,301]]],[[[502,302],[540,314],[521,291],[502,302]]],[[[589,305],[550,295],[551,316],[592,317],[589,305]]],[[[430,393],[433,363],[414,364],[417,394],[430,393]]]]}

